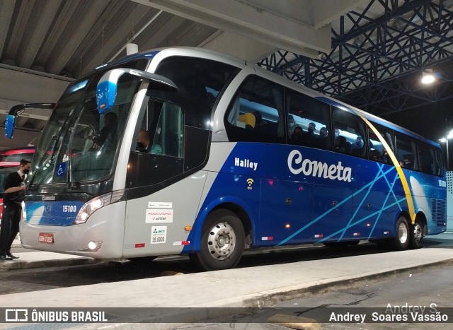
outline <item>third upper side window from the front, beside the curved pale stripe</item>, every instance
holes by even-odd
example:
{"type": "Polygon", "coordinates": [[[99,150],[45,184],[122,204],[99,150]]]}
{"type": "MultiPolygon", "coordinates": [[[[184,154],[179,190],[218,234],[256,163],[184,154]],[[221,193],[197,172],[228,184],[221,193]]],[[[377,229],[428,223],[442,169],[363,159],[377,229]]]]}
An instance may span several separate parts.
{"type": "Polygon", "coordinates": [[[333,108],[333,127],[335,140],[333,151],[365,158],[365,123],[357,115],[333,108]]]}

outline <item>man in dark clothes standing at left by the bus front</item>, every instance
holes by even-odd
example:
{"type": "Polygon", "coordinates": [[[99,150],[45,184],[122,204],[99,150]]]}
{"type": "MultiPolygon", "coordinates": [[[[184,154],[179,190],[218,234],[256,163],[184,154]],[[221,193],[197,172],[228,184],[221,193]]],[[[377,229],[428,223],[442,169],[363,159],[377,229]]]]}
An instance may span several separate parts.
{"type": "Polygon", "coordinates": [[[11,245],[19,232],[22,215],[22,201],[25,196],[23,180],[30,171],[30,160],[21,160],[17,172],[10,173],[4,184],[3,214],[0,225],[0,260],[13,260],[18,257],[11,254],[11,245]]]}

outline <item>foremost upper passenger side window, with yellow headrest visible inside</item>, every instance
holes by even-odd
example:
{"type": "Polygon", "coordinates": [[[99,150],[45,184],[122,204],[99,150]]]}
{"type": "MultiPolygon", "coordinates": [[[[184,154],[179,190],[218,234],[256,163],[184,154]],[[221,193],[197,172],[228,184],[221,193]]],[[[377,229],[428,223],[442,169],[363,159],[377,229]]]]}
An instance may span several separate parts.
{"type": "Polygon", "coordinates": [[[226,133],[230,141],[285,141],[282,86],[248,77],[229,105],[226,133]]]}

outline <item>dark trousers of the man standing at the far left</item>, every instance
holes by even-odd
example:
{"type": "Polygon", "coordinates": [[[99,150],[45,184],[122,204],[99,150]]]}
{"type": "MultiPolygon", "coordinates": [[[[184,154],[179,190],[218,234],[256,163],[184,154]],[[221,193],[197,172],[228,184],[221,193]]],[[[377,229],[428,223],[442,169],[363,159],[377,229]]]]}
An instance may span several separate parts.
{"type": "Polygon", "coordinates": [[[0,255],[6,254],[19,232],[19,221],[21,221],[22,206],[19,204],[4,204],[0,225],[0,255]]]}

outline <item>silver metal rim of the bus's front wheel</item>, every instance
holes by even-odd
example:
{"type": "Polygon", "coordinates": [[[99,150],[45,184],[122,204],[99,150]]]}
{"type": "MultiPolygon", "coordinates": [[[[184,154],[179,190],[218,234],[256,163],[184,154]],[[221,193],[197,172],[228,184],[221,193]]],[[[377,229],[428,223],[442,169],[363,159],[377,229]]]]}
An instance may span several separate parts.
{"type": "Polygon", "coordinates": [[[228,259],[234,252],[236,234],[228,223],[218,223],[210,230],[207,237],[207,249],[217,260],[228,259]]]}

